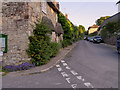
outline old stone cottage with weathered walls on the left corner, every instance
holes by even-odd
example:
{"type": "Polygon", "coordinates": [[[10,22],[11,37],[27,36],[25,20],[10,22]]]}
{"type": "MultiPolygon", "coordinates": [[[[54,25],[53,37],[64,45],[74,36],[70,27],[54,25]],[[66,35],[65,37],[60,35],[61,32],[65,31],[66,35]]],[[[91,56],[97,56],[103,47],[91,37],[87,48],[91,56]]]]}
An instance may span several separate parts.
{"type": "MultiPolygon", "coordinates": [[[[51,41],[55,41],[57,30],[57,2],[2,2],[2,32],[7,35],[7,53],[3,54],[3,66],[29,62],[26,53],[36,20],[47,20],[53,25],[51,41]]],[[[62,36],[60,33],[60,36],[62,36]]]]}

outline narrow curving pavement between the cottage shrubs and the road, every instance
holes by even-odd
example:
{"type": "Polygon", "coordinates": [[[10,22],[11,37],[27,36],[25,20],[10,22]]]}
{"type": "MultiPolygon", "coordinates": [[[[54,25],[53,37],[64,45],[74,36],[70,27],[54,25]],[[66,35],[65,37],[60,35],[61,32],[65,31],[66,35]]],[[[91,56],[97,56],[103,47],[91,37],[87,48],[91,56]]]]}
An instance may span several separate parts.
{"type": "MultiPolygon", "coordinates": [[[[54,68],[55,65],[57,63],[59,63],[60,60],[62,60],[71,50],[73,50],[77,44],[78,44],[78,42],[73,43],[71,46],[68,46],[64,49],[60,49],[58,55],[56,57],[52,58],[50,60],[50,62],[47,63],[46,65],[34,67],[34,68],[31,68],[29,70],[24,70],[24,71],[9,72],[9,74],[29,75],[29,74],[37,74],[37,73],[46,72],[46,71],[54,68]]],[[[4,74],[4,72],[2,72],[0,74],[4,74]]]]}

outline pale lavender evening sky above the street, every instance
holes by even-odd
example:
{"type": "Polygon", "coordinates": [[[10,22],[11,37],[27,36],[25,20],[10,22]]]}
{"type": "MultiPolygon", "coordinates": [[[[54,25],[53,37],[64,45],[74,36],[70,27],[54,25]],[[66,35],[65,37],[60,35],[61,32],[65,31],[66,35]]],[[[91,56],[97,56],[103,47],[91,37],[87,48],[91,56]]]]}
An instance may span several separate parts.
{"type": "MultiPolygon", "coordinates": [[[[58,1],[58,0],[57,0],[58,1]]],[[[60,11],[68,14],[69,20],[74,25],[83,25],[86,30],[95,24],[102,16],[112,16],[118,13],[118,0],[72,0],[60,1],[60,11]],[[89,2],[88,2],[89,1],[89,2]]]]}

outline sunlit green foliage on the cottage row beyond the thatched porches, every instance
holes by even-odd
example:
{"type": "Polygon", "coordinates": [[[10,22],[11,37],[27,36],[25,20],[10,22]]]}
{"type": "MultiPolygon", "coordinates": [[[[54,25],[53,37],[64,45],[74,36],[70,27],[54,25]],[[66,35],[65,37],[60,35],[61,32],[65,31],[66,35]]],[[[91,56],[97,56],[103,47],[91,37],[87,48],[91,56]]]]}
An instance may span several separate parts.
{"type": "Polygon", "coordinates": [[[62,13],[58,14],[58,22],[61,23],[64,30],[62,47],[72,45],[74,41],[83,39],[85,28],[80,25],[74,26],[62,13]]]}

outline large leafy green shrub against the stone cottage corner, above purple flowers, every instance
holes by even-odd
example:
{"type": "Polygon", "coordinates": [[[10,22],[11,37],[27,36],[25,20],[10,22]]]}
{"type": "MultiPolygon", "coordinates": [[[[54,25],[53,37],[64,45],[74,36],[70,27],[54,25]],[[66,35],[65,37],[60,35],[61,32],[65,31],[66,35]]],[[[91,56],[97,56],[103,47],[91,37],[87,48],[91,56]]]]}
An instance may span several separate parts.
{"type": "Polygon", "coordinates": [[[29,37],[30,44],[27,50],[31,61],[36,66],[49,62],[59,51],[59,44],[50,41],[51,30],[42,21],[35,22],[33,36],[29,37]]]}

